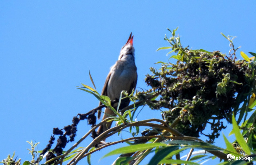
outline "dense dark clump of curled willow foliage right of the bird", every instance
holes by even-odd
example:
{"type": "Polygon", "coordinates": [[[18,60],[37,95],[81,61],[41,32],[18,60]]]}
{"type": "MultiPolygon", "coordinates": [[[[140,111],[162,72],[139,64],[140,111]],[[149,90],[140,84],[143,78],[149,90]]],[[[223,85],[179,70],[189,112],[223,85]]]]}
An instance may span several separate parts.
{"type": "Polygon", "coordinates": [[[147,75],[146,83],[151,89],[143,94],[158,92],[160,98],[147,104],[153,110],[165,108],[164,118],[169,123],[179,118],[175,128],[188,136],[199,137],[210,124],[211,133],[206,136],[212,143],[225,128],[221,120],[231,122],[232,111],[236,115],[239,105],[255,90],[255,63],[236,61],[236,54],[183,48],[175,30],[165,40],[177,53],[171,57],[177,62],[161,62],[159,70],[150,68],[152,75],[147,75]]]}

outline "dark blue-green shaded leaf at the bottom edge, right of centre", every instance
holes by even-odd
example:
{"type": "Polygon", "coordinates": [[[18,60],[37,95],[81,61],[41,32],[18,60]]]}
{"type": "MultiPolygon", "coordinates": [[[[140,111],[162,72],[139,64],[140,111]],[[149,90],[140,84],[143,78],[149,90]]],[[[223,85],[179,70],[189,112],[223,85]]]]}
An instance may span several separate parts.
{"type": "Polygon", "coordinates": [[[151,158],[148,165],[157,165],[159,161],[164,159],[170,152],[178,149],[179,146],[170,146],[164,147],[163,149],[159,149],[158,152],[151,158]]]}

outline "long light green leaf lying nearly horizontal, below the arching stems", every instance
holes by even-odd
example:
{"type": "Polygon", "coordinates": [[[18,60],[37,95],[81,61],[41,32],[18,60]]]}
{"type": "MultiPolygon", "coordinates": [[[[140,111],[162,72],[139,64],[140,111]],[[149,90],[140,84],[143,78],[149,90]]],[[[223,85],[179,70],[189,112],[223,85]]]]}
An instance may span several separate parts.
{"type": "Polygon", "coordinates": [[[111,156],[111,155],[116,155],[116,154],[127,154],[127,153],[136,152],[136,151],[142,151],[142,150],[154,148],[157,146],[166,146],[166,144],[164,144],[164,143],[147,143],[147,144],[136,144],[136,145],[132,145],[132,146],[121,147],[121,148],[118,148],[118,149],[115,149],[115,150],[109,152],[108,154],[105,154],[102,158],[105,158],[105,157],[111,156]]]}

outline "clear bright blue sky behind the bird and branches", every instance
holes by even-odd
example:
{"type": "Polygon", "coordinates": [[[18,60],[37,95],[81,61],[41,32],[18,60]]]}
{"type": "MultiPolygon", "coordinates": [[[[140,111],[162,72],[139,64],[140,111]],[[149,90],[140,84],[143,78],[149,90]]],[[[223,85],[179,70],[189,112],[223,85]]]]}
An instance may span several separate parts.
{"type": "MultiPolygon", "coordinates": [[[[228,53],[228,41],[220,34],[237,36],[240,51],[256,52],[255,1],[1,1],[0,4],[0,160],[16,151],[22,162],[30,160],[26,141],[40,142],[42,150],[53,127],[71,124],[77,113],[98,105],[92,95],[77,90],[91,85],[89,69],[97,90],[118,58],[121,47],[133,33],[137,89],[149,67],[167,61],[166,28],[175,29],[184,46],[228,53]]],[[[248,54],[249,55],[249,54],[248,54]]],[[[240,58],[240,57],[239,57],[240,58]]],[[[142,118],[160,118],[159,111],[145,108],[142,118]]],[[[75,140],[90,126],[78,125],[75,140]]],[[[228,135],[230,130],[225,130],[228,135]]],[[[116,136],[116,139],[119,139],[116,136]]],[[[230,137],[232,141],[234,138],[230,137]]],[[[82,146],[92,139],[88,138],[82,146]]],[[[72,144],[71,144],[72,145],[72,144]]],[[[225,147],[222,140],[217,143],[225,147]]],[[[93,164],[110,162],[115,157],[93,164]]],[[[85,160],[84,160],[85,161],[85,160]]],[[[145,162],[145,164],[147,161],[145,162]]],[[[82,163],[80,163],[82,164],[82,163]]],[[[110,164],[110,163],[107,163],[110,164]]]]}

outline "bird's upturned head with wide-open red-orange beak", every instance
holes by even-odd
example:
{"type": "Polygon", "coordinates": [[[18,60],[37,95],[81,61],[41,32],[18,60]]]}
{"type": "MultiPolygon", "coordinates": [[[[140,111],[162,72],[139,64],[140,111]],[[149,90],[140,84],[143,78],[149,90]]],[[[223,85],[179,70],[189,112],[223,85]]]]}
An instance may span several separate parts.
{"type": "Polygon", "coordinates": [[[134,59],[134,47],[132,45],[133,42],[133,36],[132,33],[130,34],[129,39],[127,40],[126,44],[122,47],[120,51],[120,55],[118,57],[118,60],[124,60],[126,58],[133,58],[134,59]],[[131,56],[131,57],[129,57],[131,56]]]}

